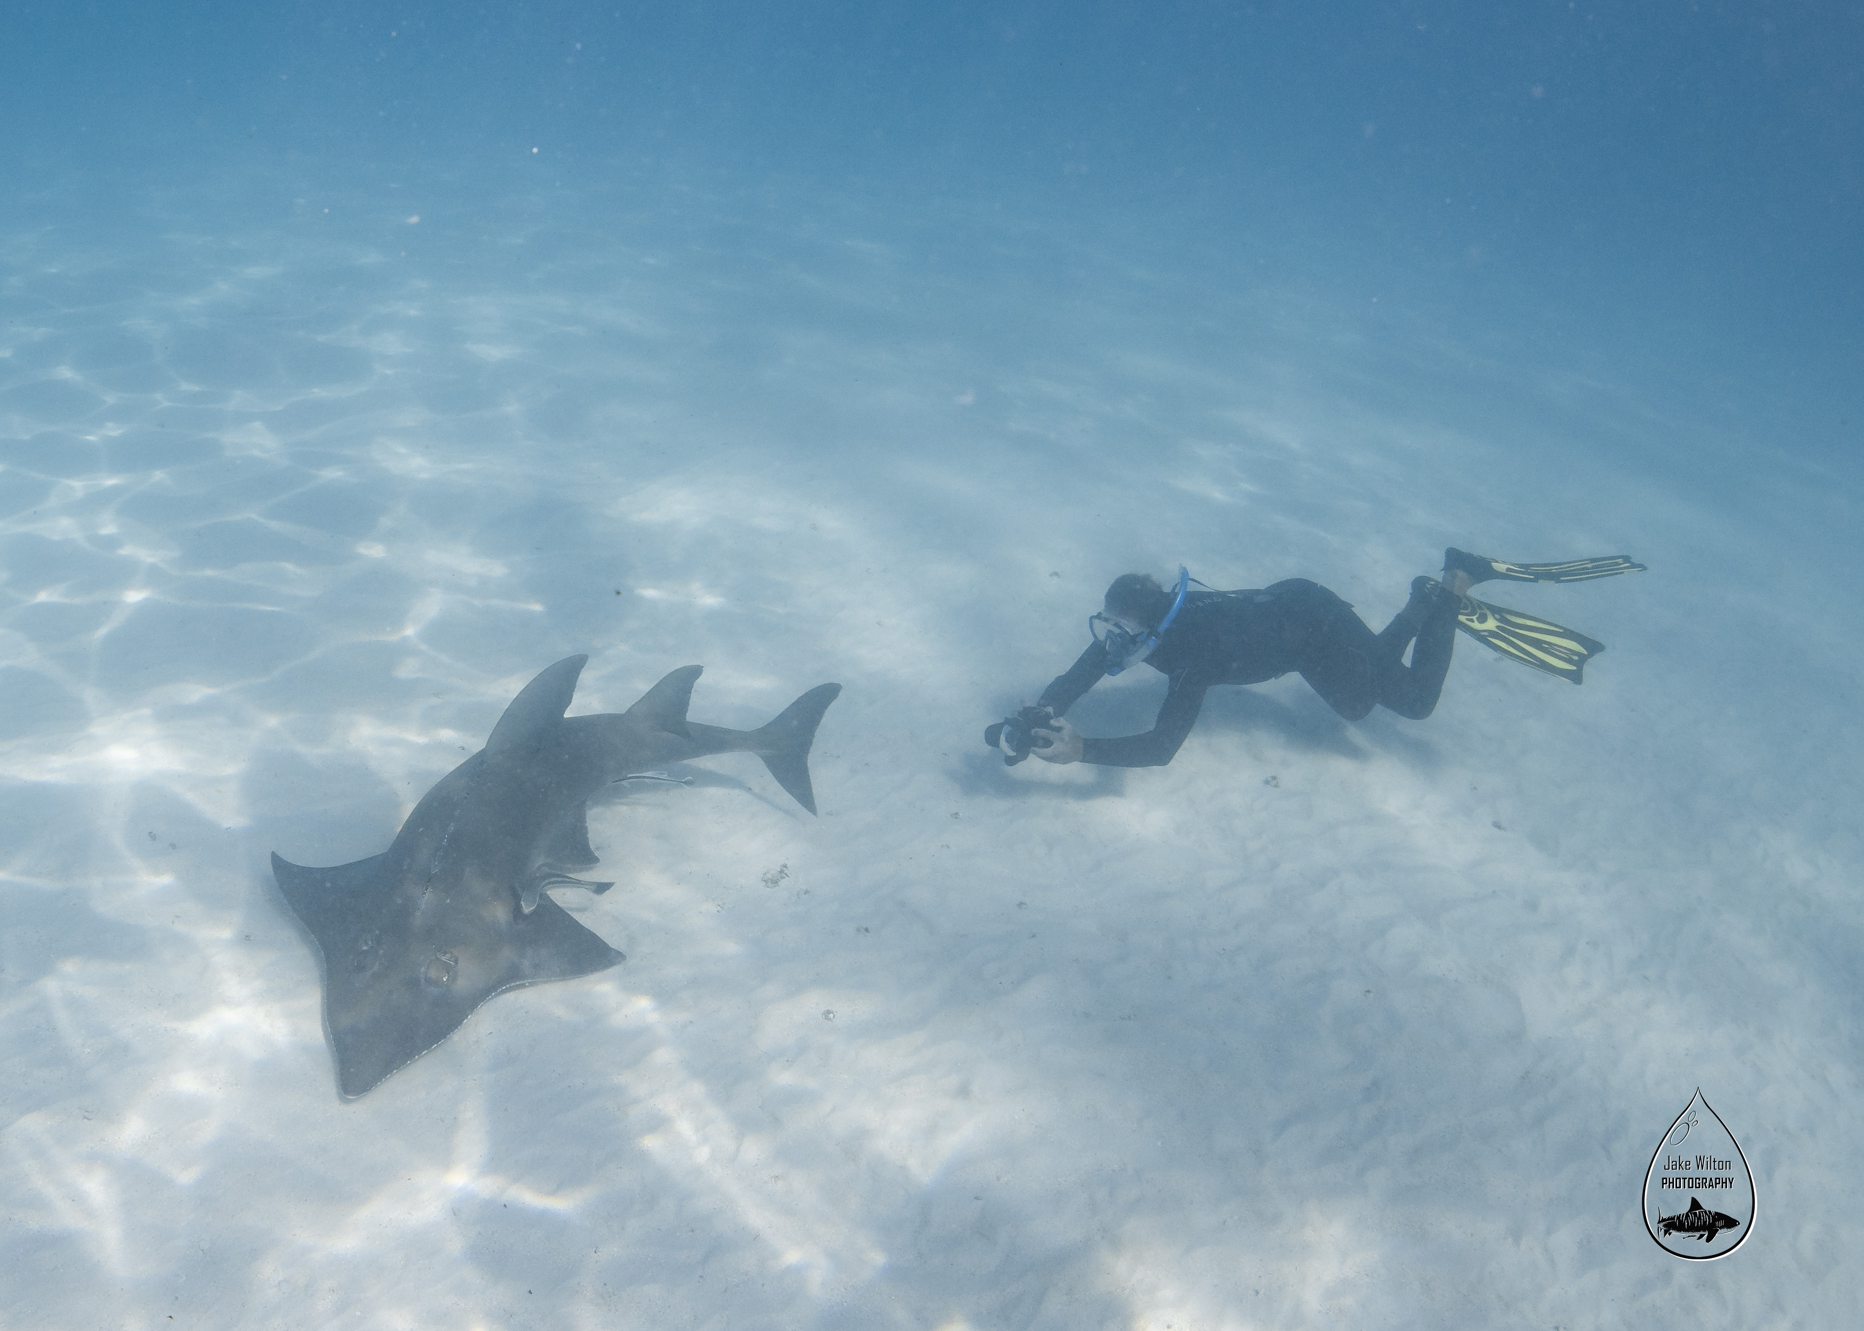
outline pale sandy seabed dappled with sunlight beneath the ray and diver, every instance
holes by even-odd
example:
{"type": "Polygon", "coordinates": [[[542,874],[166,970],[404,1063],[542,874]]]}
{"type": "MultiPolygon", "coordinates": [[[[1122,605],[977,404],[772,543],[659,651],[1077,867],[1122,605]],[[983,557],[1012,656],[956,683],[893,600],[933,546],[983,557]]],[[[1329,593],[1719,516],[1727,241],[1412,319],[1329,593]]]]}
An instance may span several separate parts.
{"type": "Polygon", "coordinates": [[[1855,1312],[1849,477],[1247,265],[287,194],[0,235],[0,1324],[1855,1312]],[[1489,591],[1583,688],[1461,639],[1424,723],[1284,679],[1161,770],[980,744],[1118,572],[1379,624],[1445,544],[1650,572],[1489,591]],[[843,682],[822,816],[747,755],[600,800],[559,900],[628,962],[339,1102],[268,854],[377,854],[572,652],[572,714],[843,682]],[[1638,1215],[1696,1087],[1726,1262],[1638,1215]]]}

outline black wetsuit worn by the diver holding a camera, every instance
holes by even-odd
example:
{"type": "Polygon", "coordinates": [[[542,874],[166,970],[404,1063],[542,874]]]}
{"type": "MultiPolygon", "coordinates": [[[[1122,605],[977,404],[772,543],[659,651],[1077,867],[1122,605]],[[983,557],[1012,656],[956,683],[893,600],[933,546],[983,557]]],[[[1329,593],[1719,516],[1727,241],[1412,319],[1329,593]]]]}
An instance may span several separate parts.
{"type": "MultiPolygon", "coordinates": [[[[1299,671],[1350,721],[1374,705],[1420,721],[1437,707],[1454,643],[1454,600],[1441,597],[1413,597],[1385,632],[1374,634],[1350,604],[1307,578],[1262,591],[1191,591],[1146,658],[1171,679],[1158,721],[1144,734],[1083,740],[1081,761],[1163,766],[1191,733],[1213,684],[1260,684],[1288,671],[1299,671]],[[1404,649],[1413,638],[1417,647],[1405,666],[1404,649]]],[[[1105,673],[1107,649],[1090,643],[1036,703],[1062,716],[1105,673]]]]}

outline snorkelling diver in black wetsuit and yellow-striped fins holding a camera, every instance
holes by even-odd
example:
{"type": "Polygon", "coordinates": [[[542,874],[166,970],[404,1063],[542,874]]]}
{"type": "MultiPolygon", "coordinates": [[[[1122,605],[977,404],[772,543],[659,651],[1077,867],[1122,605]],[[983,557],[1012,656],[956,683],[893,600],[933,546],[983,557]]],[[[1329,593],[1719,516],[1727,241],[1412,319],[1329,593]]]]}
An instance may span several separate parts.
{"type": "Polygon", "coordinates": [[[1035,705],[984,731],[1010,766],[1035,753],[1046,762],[1096,762],[1146,768],[1172,761],[1215,684],[1260,684],[1295,671],[1350,721],[1385,707],[1422,721],[1437,707],[1450,651],[1461,630],[1482,645],[1534,669],[1581,682],[1586,662],[1605,645],[1469,597],[1480,582],[1588,582],[1644,565],[1624,556],[1566,563],[1508,563],[1458,548],[1443,552],[1443,578],[1413,578],[1411,598],[1383,630],[1372,632],[1353,608],[1307,578],[1251,591],[1193,589],[1178,569],[1167,591],[1141,572],[1120,574],[1105,606],[1089,617],[1092,641],[1057,675],[1035,705]],[[1405,651],[1411,660],[1405,664],[1405,651]],[[1064,720],[1105,675],[1146,664],[1171,680],[1158,720],[1144,734],[1089,738],[1064,720]]]}

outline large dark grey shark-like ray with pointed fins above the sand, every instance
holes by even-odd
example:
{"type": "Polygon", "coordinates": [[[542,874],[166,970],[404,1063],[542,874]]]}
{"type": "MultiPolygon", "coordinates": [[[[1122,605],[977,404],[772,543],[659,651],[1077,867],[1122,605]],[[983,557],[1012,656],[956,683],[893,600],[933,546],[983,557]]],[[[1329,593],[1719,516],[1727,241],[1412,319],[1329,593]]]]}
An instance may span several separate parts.
{"type": "Polygon", "coordinates": [[[380,856],[306,869],[272,856],[272,874],[324,964],[324,1022],[345,1100],[436,1044],[494,994],[593,975],[621,953],[550,900],[596,863],[587,802],[662,762],[755,753],[815,813],[809,746],[841,684],[822,684],[757,731],[686,720],[699,666],[654,684],[621,714],[565,716],[587,656],[524,686],[485,749],[408,815],[380,856]]]}

